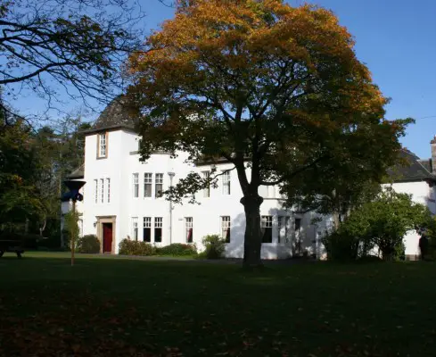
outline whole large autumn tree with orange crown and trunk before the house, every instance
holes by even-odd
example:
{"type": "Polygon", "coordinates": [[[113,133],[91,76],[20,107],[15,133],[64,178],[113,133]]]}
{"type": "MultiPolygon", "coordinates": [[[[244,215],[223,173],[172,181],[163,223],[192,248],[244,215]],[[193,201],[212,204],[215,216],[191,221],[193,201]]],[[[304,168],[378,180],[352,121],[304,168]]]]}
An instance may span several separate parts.
{"type": "MultiPolygon", "coordinates": [[[[387,99],[333,12],[281,0],[184,1],[145,45],[129,62],[142,160],[160,149],[234,164],[247,266],[260,264],[259,186],[286,190],[326,172],[334,182],[343,161],[372,173],[395,160],[404,122],[383,119],[387,99]]],[[[209,184],[190,174],[169,194],[209,184]]]]}

